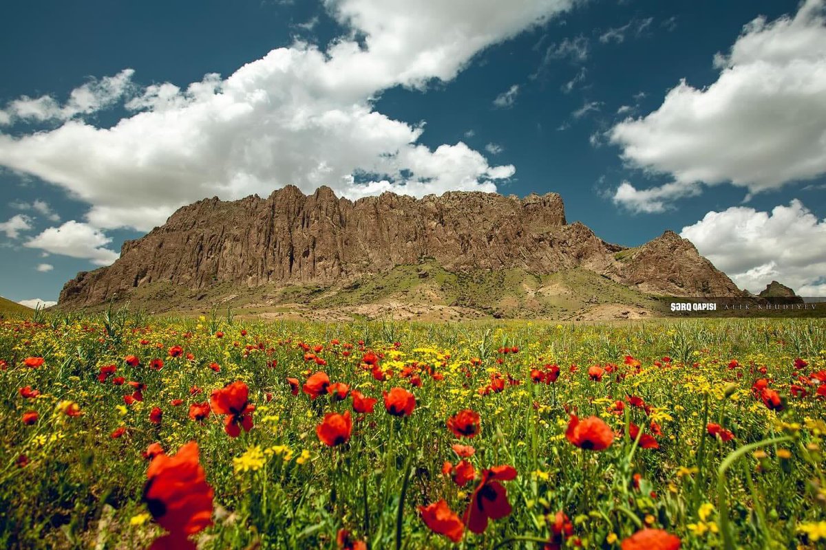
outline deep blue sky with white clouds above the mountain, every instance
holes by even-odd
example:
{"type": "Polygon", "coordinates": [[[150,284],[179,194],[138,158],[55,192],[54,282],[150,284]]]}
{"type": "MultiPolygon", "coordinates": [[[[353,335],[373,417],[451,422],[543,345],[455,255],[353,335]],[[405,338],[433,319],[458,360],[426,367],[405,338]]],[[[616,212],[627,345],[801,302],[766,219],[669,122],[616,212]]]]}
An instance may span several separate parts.
{"type": "Polygon", "coordinates": [[[558,192],[741,288],[826,295],[826,0],[15,2],[0,295],[53,303],[183,204],[558,192]],[[36,21],[36,24],[23,24],[36,21]]]}

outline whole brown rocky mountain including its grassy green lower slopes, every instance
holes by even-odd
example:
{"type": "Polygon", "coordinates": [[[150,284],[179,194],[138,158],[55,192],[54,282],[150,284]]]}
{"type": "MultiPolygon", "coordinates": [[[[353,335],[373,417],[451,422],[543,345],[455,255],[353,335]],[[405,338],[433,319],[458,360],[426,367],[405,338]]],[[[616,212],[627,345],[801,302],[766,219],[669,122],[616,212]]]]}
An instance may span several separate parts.
{"type": "Polygon", "coordinates": [[[436,317],[564,318],[606,303],[644,315],[652,295],[741,294],[676,233],[642,247],[610,244],[567,223],[556,193],[351,201],[329,187],[303,195],[286,186],[267,199],[212,198],[178,209],[125,242],[112,266],[78,273],[59,307],[129,299],[156,311],[221,303],[334,317],[425,308],[424,317],[440,310],[436,317]]]}

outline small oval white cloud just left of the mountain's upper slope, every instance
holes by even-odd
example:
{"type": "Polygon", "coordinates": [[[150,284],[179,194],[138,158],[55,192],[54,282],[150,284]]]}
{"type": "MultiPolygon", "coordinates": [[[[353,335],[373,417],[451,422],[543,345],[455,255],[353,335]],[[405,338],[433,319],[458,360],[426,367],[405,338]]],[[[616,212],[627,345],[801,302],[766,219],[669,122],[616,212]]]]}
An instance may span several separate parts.
{"type": "Polygon", "coordinates": [[[112,238],[97,228],[71,220],[59,228],[45,229],[40,235],[26,241],[24,246],[40,248],[50,254],[82,258],[92,261],[96,266],[108,266],[120,256],[116,251],[106,248],[110,242],[112,238]]]}

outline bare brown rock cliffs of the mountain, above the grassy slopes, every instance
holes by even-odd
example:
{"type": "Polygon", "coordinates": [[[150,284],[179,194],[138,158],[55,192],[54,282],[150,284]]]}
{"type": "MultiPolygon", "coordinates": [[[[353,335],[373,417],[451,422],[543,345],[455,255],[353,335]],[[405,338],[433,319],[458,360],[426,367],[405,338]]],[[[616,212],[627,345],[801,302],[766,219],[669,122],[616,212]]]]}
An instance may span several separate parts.
{"type": "Polygon", "coordinates": [[[384,193],[350,201],[328,187],[303,195],[287,186],[267,199],[212,198],[178,209],[164,226],[125,242],[112,266],[78,273],[59,303],[101,303],[161,281],[190,289],[228,281],[330,285],[426,257],[457,272],[578,266],[649,293],[739,294],[675,233],[638,249],[606,243],[582,223],[568,224],[556,193],[448,192],[420,200],[384,193]]]}

